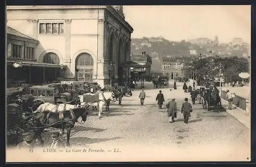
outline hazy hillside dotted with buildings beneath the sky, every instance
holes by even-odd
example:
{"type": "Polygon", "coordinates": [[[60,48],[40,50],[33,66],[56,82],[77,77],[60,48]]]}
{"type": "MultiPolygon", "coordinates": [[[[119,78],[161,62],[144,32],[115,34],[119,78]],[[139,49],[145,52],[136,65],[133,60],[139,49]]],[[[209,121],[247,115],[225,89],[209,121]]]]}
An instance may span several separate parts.
{"type": "Polygon", "coordinates": [[[230,45],[230,44],[195,44],[182,40],[169,41],[163,37],[152,38],[133,38],[131,41],[131,53],[141,54],[146,52],[152,58],[159,57],[166,59],[167,57],[191,57],[199,56],[200,53],[207,56],[219,55],[220,57],[237,56],[243,57],[248,53],[246,46],[230,45]],[[209,51],[214,51],[209,53],[209,51]]]}

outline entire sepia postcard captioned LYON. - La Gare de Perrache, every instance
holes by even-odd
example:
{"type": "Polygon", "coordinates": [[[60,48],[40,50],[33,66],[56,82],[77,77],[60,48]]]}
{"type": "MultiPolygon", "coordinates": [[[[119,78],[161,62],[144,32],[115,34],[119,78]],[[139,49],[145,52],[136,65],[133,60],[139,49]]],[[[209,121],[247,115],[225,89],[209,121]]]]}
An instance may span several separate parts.
{"type": "Polygon", "coordinates": [[[250,161],[251,6],[7,6],[6,162],[250,161]]]}

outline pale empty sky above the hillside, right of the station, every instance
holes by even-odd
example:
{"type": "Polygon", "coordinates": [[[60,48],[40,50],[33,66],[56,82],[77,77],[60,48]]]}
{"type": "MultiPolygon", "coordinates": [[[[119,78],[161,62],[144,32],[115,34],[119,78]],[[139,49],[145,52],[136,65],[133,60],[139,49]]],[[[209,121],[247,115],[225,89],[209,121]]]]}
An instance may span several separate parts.
{"type": "Polygon", "coordinates": [[[132,38],[162,36],[180,41],[218,36],[220,42],[251,41],[249,5],[123,6],[123,13],[134,29],[132,38]]]}

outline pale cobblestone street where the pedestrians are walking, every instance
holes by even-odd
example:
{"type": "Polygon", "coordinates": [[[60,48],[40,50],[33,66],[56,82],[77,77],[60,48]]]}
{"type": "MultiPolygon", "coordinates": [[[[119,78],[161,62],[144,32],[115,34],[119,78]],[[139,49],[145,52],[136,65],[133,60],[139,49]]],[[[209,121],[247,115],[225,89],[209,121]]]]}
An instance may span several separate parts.
{"type": "MultiPolygon", "coordinates": [[[[184,98],[188,98],[191,103],[190,94],[182,90],[181,84],[177,83],[178,89],[172,89],[172,92],[169,88],[161,89],[165,98],[164,105],[172,97],[176,98],[179,110],[184,98]]],[[[159,90],[145,90],[144,106],[139,104],[140,90],[133,91],[132,97],[123,98],[123,107],[119,107],[118,102],[115,102],[110,106],[111,111],[103,112],[100,120],[98,113],[91,111],[85,124],[76,124],[72,129],[72,147],[105,150],[119,148],[126,158],[128,154],[132,159],[138,156],[142,158],[143,155],[142,160],[223,158],[225,161],[250,158],[250,130],[227,112],[207,111],[196,102],[189,124],[183,123],[180,111],[176,121],[169,123],[165,106],[160,110],[156,105],[159,90]],[[168,156],[173,151],[176,152],[175,156],[168,156]]]]}

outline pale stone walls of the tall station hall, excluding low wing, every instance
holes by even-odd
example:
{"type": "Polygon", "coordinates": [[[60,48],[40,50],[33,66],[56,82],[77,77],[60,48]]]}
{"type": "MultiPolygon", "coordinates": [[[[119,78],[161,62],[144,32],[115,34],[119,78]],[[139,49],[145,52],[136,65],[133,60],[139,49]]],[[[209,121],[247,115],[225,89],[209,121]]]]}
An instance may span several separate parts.
{"type": "Polygon", "coordinates": [[[67,65],[65,78],[77,79],[76,62],[86,53],[93,63],[84,69],[91,69],[94,82],[109,85],[112,76],[115,84],[122,84],[131,77],[129,68],[120,64],[130,60],[133,28],[120,12],[122,7],[112,6],[8,6],[7,25],[39,41],[37,62],[47,53],[56,54],[67,65]]]}

